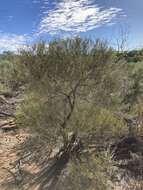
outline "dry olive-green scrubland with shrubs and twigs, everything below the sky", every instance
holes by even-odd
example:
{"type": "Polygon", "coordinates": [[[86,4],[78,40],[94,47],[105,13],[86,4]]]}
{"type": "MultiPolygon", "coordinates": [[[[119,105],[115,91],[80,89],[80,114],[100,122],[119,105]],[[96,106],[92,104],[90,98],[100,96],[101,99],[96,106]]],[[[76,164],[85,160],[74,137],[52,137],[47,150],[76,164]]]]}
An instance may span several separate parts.
{"type": "Polygon", "coordinates": [[[142,49],[77,37],[5,52],[0,119],[16,127],[2,136],[28,134],[1,190],[143,189],[142,49]]]}

